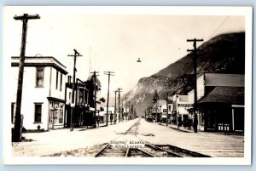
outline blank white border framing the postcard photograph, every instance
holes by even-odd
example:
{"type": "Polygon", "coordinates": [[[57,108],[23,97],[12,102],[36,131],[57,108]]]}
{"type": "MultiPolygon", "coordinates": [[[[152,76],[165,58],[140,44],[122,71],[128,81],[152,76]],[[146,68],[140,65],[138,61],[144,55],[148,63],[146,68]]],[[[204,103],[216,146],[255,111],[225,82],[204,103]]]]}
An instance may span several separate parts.
{"type": "Polygon", "coordinates": [[[166,14],[166,15],[242,15],[246,17],[246,72],[245,72],[245,134],[244,157],[211,158],[95,158],[95,157],[12,157],[10,118],[3,115],[3,159],[5,164],[133,164],[133,165],[250,165],[252,160],[252,7],[171,7],[171,6],[9,6],[3,10],[3,114],[10,113],[9,71],[10,60],[6,56],[4,42],[8,28],[4,14],[17,10],[23,14],[166,14]],[[47,9],[47,10],[45,10],[47,9]]]}

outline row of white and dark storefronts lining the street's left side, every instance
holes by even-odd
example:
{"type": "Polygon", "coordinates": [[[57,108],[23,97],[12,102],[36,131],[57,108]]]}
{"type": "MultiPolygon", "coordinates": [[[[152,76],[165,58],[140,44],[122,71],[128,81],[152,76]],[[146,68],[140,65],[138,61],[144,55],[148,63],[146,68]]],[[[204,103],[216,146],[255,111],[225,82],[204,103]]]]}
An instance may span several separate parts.
{"type": "MultiPolygon", "coordinates": [[[[19,57],[12,57],[12,89],[17,88],[19,57]]],[[[100,98],[101,83],[97,77],[73,83],[67,77],[66,66],[52,56],[26,57],[23,76],[21,115],[25,129],[69,128],[90,126],[96,128],[99,113],[103,111],[100,98]],[[66,80],[67,78],[67,80],[66,80]],[[74,109],[71,116],[72,108],[74,109]]],[[[11,123],[15,123],[16,92],[11,98],[11,123]]]]}

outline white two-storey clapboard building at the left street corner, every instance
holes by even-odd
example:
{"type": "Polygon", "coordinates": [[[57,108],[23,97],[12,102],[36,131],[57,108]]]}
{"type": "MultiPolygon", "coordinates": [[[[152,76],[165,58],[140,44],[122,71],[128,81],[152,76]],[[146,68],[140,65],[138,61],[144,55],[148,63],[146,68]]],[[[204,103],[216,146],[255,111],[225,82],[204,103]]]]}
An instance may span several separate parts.
{"type": "MultiPolygon", "coordinates": [[[[15,102],[20,57],[11,59],[11,122],[15,123],[15,102]]],[[[65,111],[66,66],[52,56],[26,57],[23,76],[21,115],[29,129],[62,128],[65,111]]]]}

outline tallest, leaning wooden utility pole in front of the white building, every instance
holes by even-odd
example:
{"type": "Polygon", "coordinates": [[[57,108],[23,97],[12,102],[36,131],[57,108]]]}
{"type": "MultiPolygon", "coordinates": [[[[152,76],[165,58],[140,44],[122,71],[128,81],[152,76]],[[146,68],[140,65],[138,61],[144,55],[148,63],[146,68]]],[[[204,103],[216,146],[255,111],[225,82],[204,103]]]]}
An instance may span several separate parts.
{"type": "Polygon", "coordinates": [[[15,132],[14,132],[14,142],[20,142],[21,140],[21,99],[22,99],[22,85],[23,85],[23,75],[24,75],[24,63],[25,63],[25,52],[26,52],[26,31],[27,31],[27,21],[33,19],[40,19],[38,14],[28,15],[23,14],[20,16],[15,16],[15,20],[21,20],[22,25],[22,37],[21,37],[21,48],[20,48],[20,66],[18,75],[18,88],[16,94],[16,113],[15,113],[15,132]]]}

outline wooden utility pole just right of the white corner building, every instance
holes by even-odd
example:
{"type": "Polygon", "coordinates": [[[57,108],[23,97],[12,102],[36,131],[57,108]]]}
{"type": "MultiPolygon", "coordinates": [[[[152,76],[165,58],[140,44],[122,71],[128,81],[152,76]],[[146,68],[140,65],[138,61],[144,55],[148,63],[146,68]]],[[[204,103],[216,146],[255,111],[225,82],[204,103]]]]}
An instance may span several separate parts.
{"type": "Polygon", "coordinates": [[[75,113],[74,91],[75,91],[75,79],[76,79],[76,61],[77,57],[82,56],[76,49],[73,49],[74,54],[68,54],[67,56],[73,57],[73,84],[72,84],[72,101],[71,101],[71,113],[70,113],[70,131],[73,131],[73,120],[75,113]]]}

